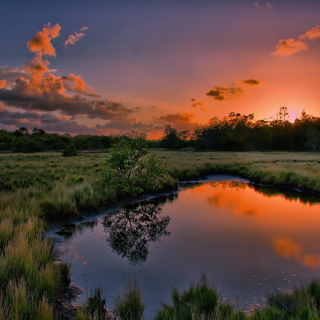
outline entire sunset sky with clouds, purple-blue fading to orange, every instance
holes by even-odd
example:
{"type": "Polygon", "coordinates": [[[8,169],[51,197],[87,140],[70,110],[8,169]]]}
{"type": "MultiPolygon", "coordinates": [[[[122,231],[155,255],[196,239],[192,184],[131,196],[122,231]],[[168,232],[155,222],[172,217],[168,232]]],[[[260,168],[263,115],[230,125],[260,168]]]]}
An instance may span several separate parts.
{"type": "Polygon", "coordinates": [[[0,128],[163,135],[320,116],[320,1],[5,1],[0,128]]]}

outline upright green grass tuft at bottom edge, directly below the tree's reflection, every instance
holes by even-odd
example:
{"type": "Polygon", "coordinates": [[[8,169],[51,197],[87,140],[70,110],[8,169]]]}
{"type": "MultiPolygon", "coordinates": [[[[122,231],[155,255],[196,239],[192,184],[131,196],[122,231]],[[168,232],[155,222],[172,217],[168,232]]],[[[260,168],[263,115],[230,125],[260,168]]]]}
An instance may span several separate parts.
{"type": "Polygon", "coordinates": [[[137,279],[128,279],[122,292],[114,297],[114,312],[121,320],[140,320],[146,304],[137,279]]]}

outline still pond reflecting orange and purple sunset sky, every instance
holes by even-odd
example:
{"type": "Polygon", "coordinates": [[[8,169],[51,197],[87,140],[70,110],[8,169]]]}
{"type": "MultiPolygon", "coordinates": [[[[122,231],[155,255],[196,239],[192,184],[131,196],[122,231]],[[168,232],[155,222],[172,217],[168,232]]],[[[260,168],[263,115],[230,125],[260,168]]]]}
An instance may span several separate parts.
{"type": "Polygon", "coordinates": [[[94,221],[51,229],[72,283],[108,295],[136,277],[152,318],[172,285],[187,288],[205,272],[225,299],[263,305],[265,292],[292,290],[320,272],[320,204],[297,193],[215,176],[174,194],[110,207],[94,221]],[[214,181],[216,180],[216,181],[214,181]],[[287,191],[286,191],[287,192],[287,191]]]}

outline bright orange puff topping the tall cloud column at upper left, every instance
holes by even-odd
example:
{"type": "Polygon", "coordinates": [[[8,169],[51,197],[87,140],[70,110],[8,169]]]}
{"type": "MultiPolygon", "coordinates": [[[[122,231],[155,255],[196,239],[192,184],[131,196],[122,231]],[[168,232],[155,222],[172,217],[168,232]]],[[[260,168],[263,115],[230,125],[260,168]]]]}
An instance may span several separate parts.
{"type": "Polygon", "coordinates": [[[27,43],[27,47],[31,52],[38,52],[40,55],[48,54],[56,56],[56,51],[51,44],[51,39],[59,36],[61,27],[57,23],[51,27],[50,23],[44,25],[42,31],[38,31],[36,35],[27,43]]]}

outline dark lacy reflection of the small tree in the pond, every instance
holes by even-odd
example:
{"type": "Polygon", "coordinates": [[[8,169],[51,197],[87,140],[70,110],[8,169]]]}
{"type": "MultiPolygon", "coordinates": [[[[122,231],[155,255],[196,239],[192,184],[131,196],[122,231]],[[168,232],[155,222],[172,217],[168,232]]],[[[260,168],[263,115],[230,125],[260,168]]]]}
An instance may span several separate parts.
{"type": "Polygon", "coordinates": [[[103,222],[109,232],[107,241],[111,248],[133,264],[146,261],[148,242],[170,235],[166,229],[170,218],[160,216],[162,208],[158,204],[131,204],[106,217],[103,222]]]}

